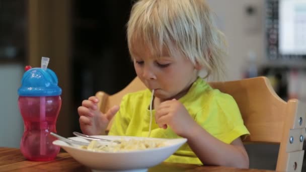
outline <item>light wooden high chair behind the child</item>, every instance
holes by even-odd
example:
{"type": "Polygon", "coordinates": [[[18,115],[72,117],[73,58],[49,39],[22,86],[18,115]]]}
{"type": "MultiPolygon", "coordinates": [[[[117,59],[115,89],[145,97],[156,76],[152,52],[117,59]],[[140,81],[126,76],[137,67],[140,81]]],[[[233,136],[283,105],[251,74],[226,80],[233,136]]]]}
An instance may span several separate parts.
{"type": "MultiPolygon", "coordinates": [[[[210,82],[212,88],[230,94],[236,100],[244,123],[251,135],[245,143],[280,144],[276,170],[301,171],[306,106],[296,99],[288,102],[280,99],[266,77],[255,77],[235,81],[210,82]]],[[[138,77],[126,88],[114,95],[98,92],[98,105],[106,112],[113,105],[120,105],[126,93],[145,89],[138,77]]],[[[111,123],[107,130],[110,129],[111,123]]]]}

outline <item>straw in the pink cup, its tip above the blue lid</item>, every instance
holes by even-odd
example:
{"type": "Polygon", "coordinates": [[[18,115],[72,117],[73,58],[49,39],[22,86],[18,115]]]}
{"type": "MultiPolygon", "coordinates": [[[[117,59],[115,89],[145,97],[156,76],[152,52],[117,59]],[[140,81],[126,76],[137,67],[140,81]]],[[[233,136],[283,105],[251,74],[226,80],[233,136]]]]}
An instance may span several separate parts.
{"type": "MultiPolygon", "coordinates": [[[[49,58],[48,57],[41,57],[41,68],[46,70],[48,67],[49,58]]],[[[40,97],[40,154],[46,154],[46,97],[40,97]]]]}

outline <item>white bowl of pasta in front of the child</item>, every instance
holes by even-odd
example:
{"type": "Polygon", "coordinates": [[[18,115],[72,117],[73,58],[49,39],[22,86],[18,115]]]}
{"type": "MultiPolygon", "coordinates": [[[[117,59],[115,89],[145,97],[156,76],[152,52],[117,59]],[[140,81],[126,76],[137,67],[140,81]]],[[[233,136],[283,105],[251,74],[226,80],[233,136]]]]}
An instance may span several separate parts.
{"type": "MultiPolygon", "coordinates": [[[[159,138],[147,137],[128,137],[128,136],[95,136],[110,140],[121,139],[150,139],[156,140],[159,138]]],[[[70,137],[70,139],[89,142],[80,137],[70,137]]],[[[170,155],[172,155],[187,139],[159,139],[165,141],[165,146],[159,148],[132,150],[132,151],[118,151],[118,152],[94,152],[91,150],[81,149],[78,145],[68,145],[67,143],[55,140],[53,144],[61,146],[66,150],[75,160],[90,167],[93,171],[147,171],[147,168],[155,166],[170,155]]]]}

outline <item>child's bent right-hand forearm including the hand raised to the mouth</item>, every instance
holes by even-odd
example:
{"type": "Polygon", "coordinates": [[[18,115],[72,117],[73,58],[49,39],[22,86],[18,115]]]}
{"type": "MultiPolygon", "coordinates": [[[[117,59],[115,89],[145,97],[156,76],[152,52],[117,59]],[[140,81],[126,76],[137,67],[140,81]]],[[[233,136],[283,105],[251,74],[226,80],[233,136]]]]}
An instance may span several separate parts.
{"type": "Polygon", "coordinates": [[[187,138],[188,145],[203,164],[249,167],[249,157],[240,138],[226,144],[213,137],[191,118],[179,101],[161,103],[155,116],[161,128],[169,126],[179,136],[187,138]]]}

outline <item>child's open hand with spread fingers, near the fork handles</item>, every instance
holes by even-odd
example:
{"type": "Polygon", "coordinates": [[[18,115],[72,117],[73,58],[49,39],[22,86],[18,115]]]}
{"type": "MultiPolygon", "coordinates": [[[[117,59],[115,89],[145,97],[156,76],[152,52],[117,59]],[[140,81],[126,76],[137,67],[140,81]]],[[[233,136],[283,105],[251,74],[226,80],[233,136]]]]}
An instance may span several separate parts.
{"type": "Polygon", "coordinates": [[[82,106],[78,108],[80,127],[84,134],[98,135],[104,132],[109,121],[119,110],[119,106],[114,106],[103,114],[98,109],[98,102],[98,98],[92,96],[88,100],[84,100],[82,106]]]}

